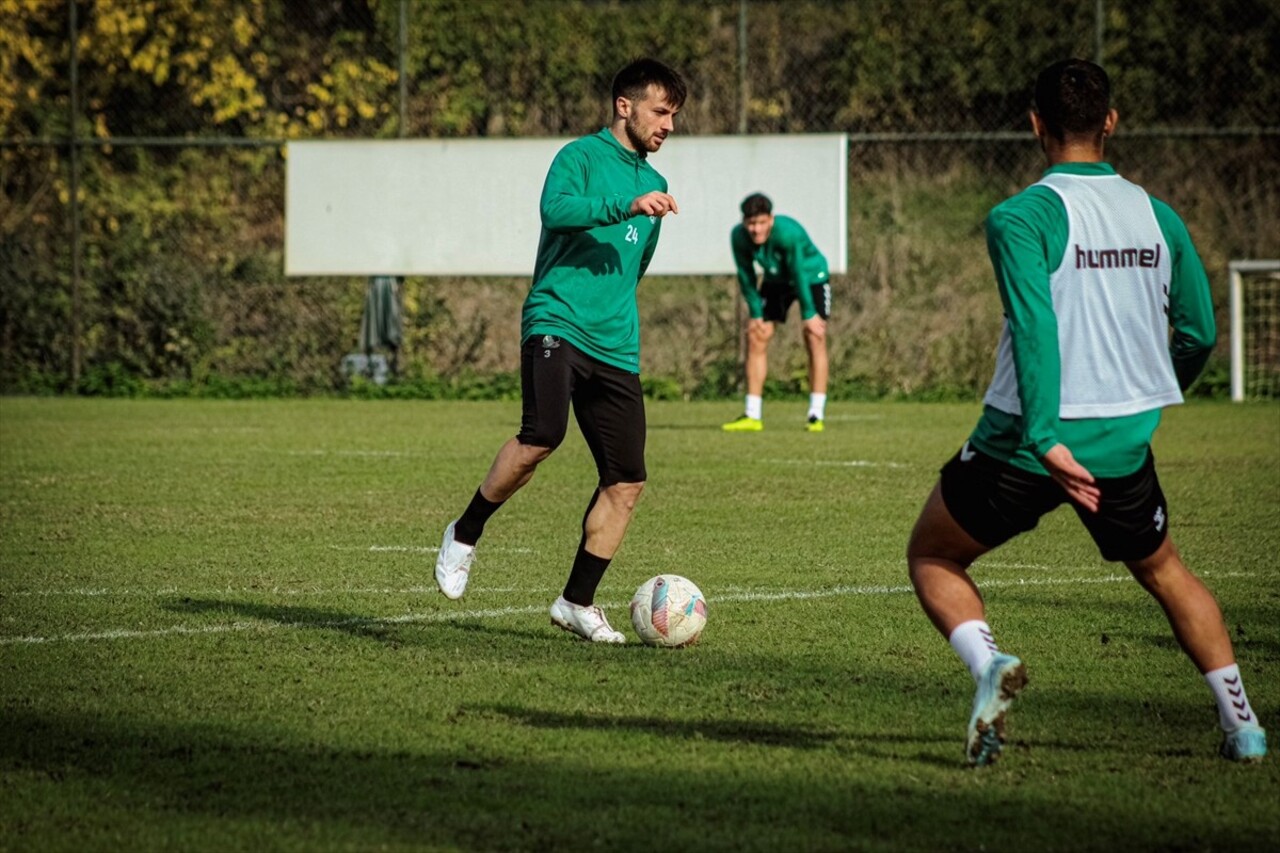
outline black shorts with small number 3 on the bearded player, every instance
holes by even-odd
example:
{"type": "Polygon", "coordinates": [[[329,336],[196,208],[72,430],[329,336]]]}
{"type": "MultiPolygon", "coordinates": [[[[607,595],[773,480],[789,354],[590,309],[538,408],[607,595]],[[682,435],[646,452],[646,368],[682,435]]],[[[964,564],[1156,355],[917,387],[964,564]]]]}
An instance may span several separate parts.
{"type": "Polygon", "coordinates": [[[644,483],[644,393],[640,377],[586,355],[564,338],[530,336],[520,350],[524,411],[516,441],[559,447],[573,403],[600,485],[644,483]]]}

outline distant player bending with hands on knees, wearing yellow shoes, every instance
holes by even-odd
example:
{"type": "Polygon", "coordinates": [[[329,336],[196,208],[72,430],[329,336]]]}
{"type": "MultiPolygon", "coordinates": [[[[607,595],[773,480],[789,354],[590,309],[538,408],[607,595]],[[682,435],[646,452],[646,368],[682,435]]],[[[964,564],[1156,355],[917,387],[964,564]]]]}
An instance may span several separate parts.
{"type": "Polygon", "coordinates": [[[805,429],[820,433],[827,409],[827,318],[831,277],[827,259],[809,240],[804,225],[773,214],[768,196],[753,193],[742,201],[742,223],[730,234],[737,283],[746,301],[746,411],[724,424],[731,433],[764,429],[764,379],[769,371],[769,341],[786,323],[792,302],[800,302],[804,345],[809,355],[809,418],[805,429]],[[755,268],[764,270],[756,283],[755,268]]]}

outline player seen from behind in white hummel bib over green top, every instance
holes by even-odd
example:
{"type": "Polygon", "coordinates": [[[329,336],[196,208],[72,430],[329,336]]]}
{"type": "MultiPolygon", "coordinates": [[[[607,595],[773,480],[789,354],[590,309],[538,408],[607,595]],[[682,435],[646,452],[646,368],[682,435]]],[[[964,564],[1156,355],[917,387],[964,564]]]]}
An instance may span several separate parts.
{"type": "Polygon", "coordinates": [[[995,377],[908,544],[924,612],[978,683],[973,765],[998,757],[1027,670],[998,649],[968,569],[1064,502],[1164,608],[1217,702],[1222,757],[1267,751],[1217,602],[1169,535],[1151,452],[1161,410],[1181,402],[1213,346],[1208,279],[1172,209],[1103,160],[1116,127],[1110,90],[1106,72],[1079,59],[1036,81],[1032,129],[1048,169],[987,218],[1005,309],[995,377]]]}

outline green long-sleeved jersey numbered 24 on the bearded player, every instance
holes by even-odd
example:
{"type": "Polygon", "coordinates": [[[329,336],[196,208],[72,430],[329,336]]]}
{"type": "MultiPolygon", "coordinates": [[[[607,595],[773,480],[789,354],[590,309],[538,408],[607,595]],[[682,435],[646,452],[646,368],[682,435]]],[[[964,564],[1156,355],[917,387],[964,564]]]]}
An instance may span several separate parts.
{"type": "Polygon", "coordinates": [[[521,341],[554,334],[594,359],[640,373],[636,287],[662,218],[630,210],[636,196],[654,190],[666,192],[667,181],[609,128],[559,150],[543,184],[543,231],[521,341]]]}

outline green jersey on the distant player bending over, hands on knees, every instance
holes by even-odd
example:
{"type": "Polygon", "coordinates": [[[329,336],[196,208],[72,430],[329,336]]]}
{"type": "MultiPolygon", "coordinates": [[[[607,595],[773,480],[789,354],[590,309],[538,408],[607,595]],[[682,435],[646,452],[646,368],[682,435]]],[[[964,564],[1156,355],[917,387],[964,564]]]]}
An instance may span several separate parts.
{"type": "Polygon", "coordinates": [[[829,274],[827,259],[809,240],[804,225],[791,216],[774,216],[773,231],[763,245],[756,246],[741,224],[730,233],[733,263],[737,265],[737,286],[753,319],[764,316],[764,298],[755,283],[755,265],[764,270],[763,284],[788,284],[800,300],[800,319],[818,314],[813,304],[814,284],[823,284],[829,274]]]}

